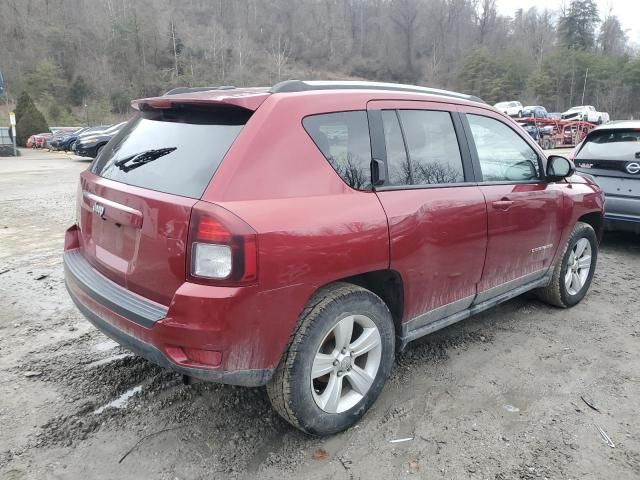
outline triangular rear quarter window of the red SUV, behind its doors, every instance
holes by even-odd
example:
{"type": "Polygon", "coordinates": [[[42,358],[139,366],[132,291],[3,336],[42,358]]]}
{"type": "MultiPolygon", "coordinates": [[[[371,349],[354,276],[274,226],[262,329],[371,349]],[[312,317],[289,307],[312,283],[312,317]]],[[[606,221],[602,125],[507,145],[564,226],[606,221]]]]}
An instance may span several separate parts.
{"type": "Polygon", "coordinates": [[[366,112],[313,115],[302,124],[347,185],[360,190],[371,187],[371,142],[366,112]]]}

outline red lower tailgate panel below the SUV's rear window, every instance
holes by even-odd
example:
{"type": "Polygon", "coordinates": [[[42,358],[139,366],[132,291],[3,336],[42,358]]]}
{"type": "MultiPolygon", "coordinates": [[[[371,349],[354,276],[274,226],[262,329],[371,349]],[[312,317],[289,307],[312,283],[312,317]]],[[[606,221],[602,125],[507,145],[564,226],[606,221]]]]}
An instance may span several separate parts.
{"type": "Polygon", "coordinates": [[[185,280],[189,218],[197,200],[118,184],[88,171],[80,187],[84,257],[128,290],[169,305],[185,280]]]}

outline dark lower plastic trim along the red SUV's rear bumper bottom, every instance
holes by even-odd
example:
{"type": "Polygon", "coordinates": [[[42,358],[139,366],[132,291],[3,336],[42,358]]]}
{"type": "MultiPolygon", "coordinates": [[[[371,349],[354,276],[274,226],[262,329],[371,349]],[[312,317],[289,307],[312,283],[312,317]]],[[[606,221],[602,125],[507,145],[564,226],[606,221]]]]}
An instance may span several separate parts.
{"type": "Polygon", "coordinates": [[[260,387],[265,385],[271,379],[273,375],[272,369],[255,369],[255,370],[236,370],[236,371],[223,371],[223,370],[209,370],[206,368],[195,367],[183,367],[176,365],[169,360],[160,350],[153,345],[143,342],[142,340],[135,338],[119,328],[114,327],[112,324],[100,318],[95,312],[91,311],[86,305],[73,294],[71,288],[69,288],[68,279],[65,279],[65,286],[67,291],[76,304],[76,307],[80,312],[91,322],[91,324],[104,333],[107,337],[118,342],[122,347],[132,351],[136,355],[139,355],[150,362],[153,362],[161,367],[169,368],[183,375],[197,378],[207,382],[226,383],[229,385],[241,385],[245,387],[260,387]]]}

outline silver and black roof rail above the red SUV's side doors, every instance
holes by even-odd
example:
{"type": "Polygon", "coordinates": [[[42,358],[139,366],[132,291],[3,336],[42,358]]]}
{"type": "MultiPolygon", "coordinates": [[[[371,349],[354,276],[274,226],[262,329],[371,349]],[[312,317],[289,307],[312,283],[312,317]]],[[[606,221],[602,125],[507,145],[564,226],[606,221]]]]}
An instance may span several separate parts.
{"type": "Polygon", "coordinates": [[[285,80],[277,83],[269,90],[269,93],[291,93],[305,92],[309,90],[344,90],[344,89],[366,89],[366,90],[389,90],[396,92],[426,93],[429,95],[439,95],[443,97],[461,98],[473,102],[485,103],[481,98],[464,93],[440,90],[438,88],[420,87],[417,85],[403,85],[401,83],[383,82],[358,82],[358,81],[303,81],[285,80]]]}

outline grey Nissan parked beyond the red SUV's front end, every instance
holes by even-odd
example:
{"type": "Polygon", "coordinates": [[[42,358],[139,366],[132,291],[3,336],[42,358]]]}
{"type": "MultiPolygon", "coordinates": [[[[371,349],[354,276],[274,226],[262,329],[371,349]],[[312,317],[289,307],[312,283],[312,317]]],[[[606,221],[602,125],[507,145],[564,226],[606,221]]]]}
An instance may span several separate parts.
{"type": "Polygon", "coordinates": [[[640,233],[640,121],[593,129],[573,157],[605,193],[606,227],[640,233]]]}

